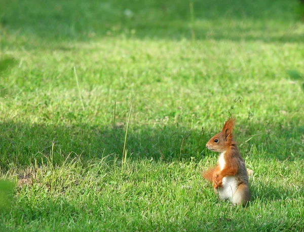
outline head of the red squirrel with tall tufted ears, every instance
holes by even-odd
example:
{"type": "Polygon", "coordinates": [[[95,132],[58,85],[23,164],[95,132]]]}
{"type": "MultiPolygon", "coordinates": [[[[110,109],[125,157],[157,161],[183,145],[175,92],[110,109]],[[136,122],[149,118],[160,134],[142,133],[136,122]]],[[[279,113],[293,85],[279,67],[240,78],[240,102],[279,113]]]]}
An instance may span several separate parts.
{"type": "Polygon", "coordinates": [[[225,122],[222,131],[216,134],[215,136],[213,136],[206,144],[206,147],[210,151],[224,152],[231,145],[235,144],[232,135],[234,125],[235,125],[235,119],[229,118],[225,122]]]}

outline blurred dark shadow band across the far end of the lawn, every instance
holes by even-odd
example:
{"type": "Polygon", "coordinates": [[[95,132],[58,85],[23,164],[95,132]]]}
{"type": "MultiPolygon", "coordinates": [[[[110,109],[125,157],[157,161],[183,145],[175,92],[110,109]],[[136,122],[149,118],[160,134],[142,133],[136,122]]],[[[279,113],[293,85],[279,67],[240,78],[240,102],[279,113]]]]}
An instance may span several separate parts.
{"type": "MultiPolygon", "coordinates": [[[[298,29],[294,23],[300,19],[295,11],[299,3],[295,0],[193,0],[193,6],[194,15],[190,13],[188,1],[3,2],[0,4],[0,32],[24,35],[24,46],[43,43],[44,47],[50,46],[50,42],[91,41],[116,36],[191,39],[191,27],[197,40],[304,41],[293,34],[293,30],[298,29]],[[192,16],[194,22],[191,22],[192,16]]],[[[6,41],[5,37],[3,41],[6,41]]]]}

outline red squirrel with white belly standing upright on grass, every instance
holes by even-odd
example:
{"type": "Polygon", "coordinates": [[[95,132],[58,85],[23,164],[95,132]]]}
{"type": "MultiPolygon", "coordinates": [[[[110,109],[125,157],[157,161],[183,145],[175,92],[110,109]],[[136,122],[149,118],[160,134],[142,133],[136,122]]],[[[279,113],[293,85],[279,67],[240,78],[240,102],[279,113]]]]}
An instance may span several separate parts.
{"type": "Polygon", "coordinates": [[[245,161],[233,139],[235,119],[229,118],[221,132],[213,136],[206,147],[219,152],[217,165],[203,172],[202,176],[211,181],[220,200],[229,200],[234,205],[245,206],[250,200],[250,190],[245,161]]]}

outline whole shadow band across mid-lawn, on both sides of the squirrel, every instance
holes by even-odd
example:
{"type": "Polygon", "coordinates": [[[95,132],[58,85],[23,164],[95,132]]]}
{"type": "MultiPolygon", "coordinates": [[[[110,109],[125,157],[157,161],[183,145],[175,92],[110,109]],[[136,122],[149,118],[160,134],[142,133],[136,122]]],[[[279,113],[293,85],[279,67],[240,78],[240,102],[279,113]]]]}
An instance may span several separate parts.
{"type": "MultiPolygon", "coordinates": [[[[247,132],[237,132],[236,140],[245,141],[260,130],[260,136],[239,142],[243,157],[249,159],[266,158],[293,160],[300,156],[302,145],[296,143],[302,135],[303,127],[291,125],[288,128],[257,125],[248,121],[238,124],[247,125],[247,132]],[[264,129],[263,129],[264,128],[264,129]],[[264,131],[265,130],[265,131],[264,131]],[[268,134],[272,130],[273,134],[268,134]],[[244,134],[245,133],[245,134],[244,134]],[[292,142],[293,141],[293,142],[292,142]],[[255,150],[252,147],[255,146],[255,150]]],[[[36,159],[38,163],[47,161],[53,151],[53,162],[62,163],[70,154],[81,156],[83,160],[106,155],[122,155],[125,128],[99,127],[89,124],[58,126],[52,124],[22,124],[14,121],[0,123],[1,167],[9,169],[11,163],[28,165],[36,159]],[[54,146],[52,146],[54,144],[54,146]]],[[[206,142],[213,136],[208,132],[189,130],[178,125],[134,125],[129,128],[126,149],[128,158],[154,158],[163,161],[203,159],[217,154],[205,149],[206,142]]]]}

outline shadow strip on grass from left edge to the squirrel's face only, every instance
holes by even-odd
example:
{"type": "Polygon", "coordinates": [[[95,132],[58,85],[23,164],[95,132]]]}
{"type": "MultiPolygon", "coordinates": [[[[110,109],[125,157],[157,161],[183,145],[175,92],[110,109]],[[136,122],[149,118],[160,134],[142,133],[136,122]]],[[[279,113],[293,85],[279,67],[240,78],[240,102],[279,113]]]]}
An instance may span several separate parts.
{"type": "MultiPolygon", "coordinates": [[[[125,128],[100,128],[91,125],[53,126],[47,124],[25,125],[14,122],[0,123],[0,150],[2,167],[14,162],[27,165],[34,159],[47,161],[53,146],[54,162],[62,162],[68,154],[84,160],[106,155],[121,155],[125,128]],[[31,161],[30,161],[31,160],[31,161]]],[[[199,131],[185,128],[142,126],[128,131],[126,149],[128,158],[200,158],[206,138],[199,131]],[[193,153],[193,154],[192,154],[193,153]]]]}

